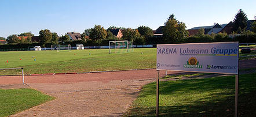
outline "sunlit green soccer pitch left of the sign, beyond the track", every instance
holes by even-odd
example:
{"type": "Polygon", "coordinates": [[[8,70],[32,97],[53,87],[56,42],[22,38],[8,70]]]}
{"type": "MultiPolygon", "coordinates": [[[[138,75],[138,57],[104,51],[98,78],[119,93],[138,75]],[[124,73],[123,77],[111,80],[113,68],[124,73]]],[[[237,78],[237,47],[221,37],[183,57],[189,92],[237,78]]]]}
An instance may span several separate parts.
{"type": "MultiPolygon", "coordinates": [[[[24,67],[25,74],[72,73],[156,67],[156,48],[138,48],[126,54],[109,54],[108,49],[68,51],[0,52],[0,68],[24,67]],[[89,55],[90,53],[90,55],[89,55]],[[142,54],[143,53],[143,54],[142,54]],[[35,58],[32,58],[35,56],[35,58]],[[21,60],[20,60],[21,59],[21,60]],[[36,61],[34,61],[36,59],[36,61]],[[8,60],[9,63],[6,63],[8,60]]],[[[1,75],[21,70],[0,71],[1,75]]]]}

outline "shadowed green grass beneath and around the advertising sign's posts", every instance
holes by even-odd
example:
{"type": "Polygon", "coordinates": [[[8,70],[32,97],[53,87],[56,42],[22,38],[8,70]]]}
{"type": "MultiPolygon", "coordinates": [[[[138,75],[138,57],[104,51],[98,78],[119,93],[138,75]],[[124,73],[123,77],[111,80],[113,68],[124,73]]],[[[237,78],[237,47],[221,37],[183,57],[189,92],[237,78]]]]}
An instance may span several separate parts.
{"type": "MultiPolygon", "coordinates": [[[[256,73],[239,76],[239,114],[256,115],[256,73]]],[[[160,116],[233,116],[235,76],[161,81],[160,116]]],[[[156,83],[145,85],[124,116],[155,116],[156,83]]]]}

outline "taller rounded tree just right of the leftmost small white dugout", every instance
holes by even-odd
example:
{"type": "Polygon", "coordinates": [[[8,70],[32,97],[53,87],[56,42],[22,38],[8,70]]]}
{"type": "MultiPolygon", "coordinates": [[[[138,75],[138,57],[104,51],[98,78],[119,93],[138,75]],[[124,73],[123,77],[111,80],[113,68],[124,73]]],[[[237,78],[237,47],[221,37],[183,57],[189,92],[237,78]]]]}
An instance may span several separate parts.
{"type": "Polygon", "coordinates": [[[50,32],[49,29],[39,31],[39,39],[43,47],[45,47],[46,43],[50,43],[50,41],[52,40],[52,35],[53,34],[52,32],[50,32]]]}

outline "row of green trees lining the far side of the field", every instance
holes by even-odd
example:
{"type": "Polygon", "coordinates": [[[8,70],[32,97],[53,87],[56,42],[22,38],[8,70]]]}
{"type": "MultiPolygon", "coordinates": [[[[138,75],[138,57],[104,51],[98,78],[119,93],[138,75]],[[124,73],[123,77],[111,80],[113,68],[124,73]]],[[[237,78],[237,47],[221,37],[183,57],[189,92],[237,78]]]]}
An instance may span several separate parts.
{"type": "MultiPolygon", "coordinates": [[[[256,22],[253,22],[251,27],[253,32],[246,31],[247,26],[247,16],[242,9],[236,14],[233,20],[233,31],[234,33],[256,33],[256,22]]],[[[220,34],[222,35],[222,34],[220,34]]],[[[223,35],[226,35],[225,33],[223,35]]],[[[31,37],[34,36],[31,32],[21,33],[20,35],[10,35],[7,37],[6,41],[8,43],[31,43],[31,37]]],[[[123,27],[109,27],[104,29],[101,25],[95,25],[93,28],[85,29],[81,34],[82,41],[95,42],[97,44],[105,44],[103,41],[109,40],[130,40],[134,41],[134,44],[156,44],[156,43],[181,43],[187,41],[188,31],[186,31],[186,25],[184,22],[178,21],[174,14],[171,14],[167,21],[164,22],[163,36],[153,37],[152,29],[147,26],[140,26],[136,29],[123,28],[123,27]],[[121,29],[122,38],[118,39],[110,31],[111,29],[121,29]]],[[[207,39],[215,39],[213,35],[204,35],[204,29],[199,29],[199,33],[193,36],[198,39],[199,37],[207,39]]],[[[0,40],[5,38],[0,37],[0,40]]],[[[68,35],[58,36],[56,32],[50,32],[49,29],[44,29],[39,31],[39,39],[41,46],[45,46],[47,43],[52,44],[65,44],[70,43],[70,38],[68,35]]],[[[221,41],[221,40],[220,40],[221,41]]]]}

